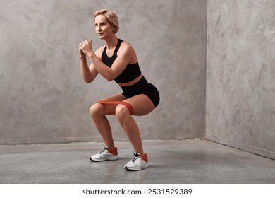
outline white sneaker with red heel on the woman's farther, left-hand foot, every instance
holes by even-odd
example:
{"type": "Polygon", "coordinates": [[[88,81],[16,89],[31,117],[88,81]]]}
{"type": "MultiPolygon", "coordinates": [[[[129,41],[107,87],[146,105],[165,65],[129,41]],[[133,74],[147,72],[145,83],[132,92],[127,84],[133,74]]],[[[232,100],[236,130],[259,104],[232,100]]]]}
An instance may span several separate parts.
{"type": "Polygon", "coordinates": [[[118,158],[118,148],[111,150],[106,146],[104,146],[103,151],[100,153],[97,153],[94,156],[90,156],[91,161],[115,161],[118,158]]]}

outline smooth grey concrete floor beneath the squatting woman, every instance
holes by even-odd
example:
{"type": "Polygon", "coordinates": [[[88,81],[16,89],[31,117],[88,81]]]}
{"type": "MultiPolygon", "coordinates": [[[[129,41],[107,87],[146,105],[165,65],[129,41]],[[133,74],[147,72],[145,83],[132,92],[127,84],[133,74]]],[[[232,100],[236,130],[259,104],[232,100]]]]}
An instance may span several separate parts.
{"type": "Polygon", "coordinates": [[[116,142],[118,161],[92,162],[102,143],[0,146],[0,183],[275,183],[275,161],[212,141],[144,141],[151,166],[123,166],[133,157],[116,142]]]}

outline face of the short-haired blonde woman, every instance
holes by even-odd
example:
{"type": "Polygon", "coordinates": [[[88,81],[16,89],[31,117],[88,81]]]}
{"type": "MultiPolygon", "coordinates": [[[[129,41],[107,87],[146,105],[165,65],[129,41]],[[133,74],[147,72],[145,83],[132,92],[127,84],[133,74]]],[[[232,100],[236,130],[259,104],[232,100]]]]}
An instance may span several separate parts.
{"type": "Polygon", "coordinates": [[[94,26],[100,39],[106,39],[109,35],[114,34],[112,25],[109,23],[106,16],[102,14],[94,18],[94,26]]]}

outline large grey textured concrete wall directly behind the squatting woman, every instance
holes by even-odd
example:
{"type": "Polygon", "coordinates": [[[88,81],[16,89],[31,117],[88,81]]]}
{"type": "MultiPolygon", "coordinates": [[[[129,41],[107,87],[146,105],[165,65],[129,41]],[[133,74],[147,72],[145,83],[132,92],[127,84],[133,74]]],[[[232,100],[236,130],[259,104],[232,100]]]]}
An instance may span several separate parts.
{"type": "MultiPolygon", "coordinates": [[[[0,144],[101,140],[90,105],[121,88],[101,76],[82,81],[78,43],[104,45],[93,21],[102,8],[118,13],[118,37],[133,45],[161,94],[157,110],[135,117],[142,137],[205,136],[206,0],[1,0],[0,144]]],[[[126,139],[116,118],[110,122],[115,139],[126,139]]]]}

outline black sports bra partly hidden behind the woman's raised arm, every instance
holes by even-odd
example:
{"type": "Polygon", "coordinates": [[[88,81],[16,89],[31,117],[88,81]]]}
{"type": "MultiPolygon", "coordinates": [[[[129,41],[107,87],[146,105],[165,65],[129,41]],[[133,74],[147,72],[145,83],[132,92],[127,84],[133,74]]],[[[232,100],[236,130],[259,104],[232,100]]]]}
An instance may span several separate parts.
{"type": "MultiPolygon", "coordinates": [[[[121,46],[121,42],[123,42],[123,40],[118,39],[118,44],[116,45],[116,49],[114,50],[114,54],[112,57],[108,57],[108,55],[106,54],[107,47],[105,46],[102,52],[102,62],[104,64],[111,67],[111,65],[117,58],[117,52],[119,47],[121,46]]],[[[138,62],[135,64],[128,64],[126,68],[121,72],[121,74],[119,74],[118,77],[116,77],[114,80],[116,81],[116,83],[128,83],[130,81],[135,80],[135,78],[138,78],[140,74],[141,71],[138,62]]]]}

